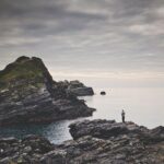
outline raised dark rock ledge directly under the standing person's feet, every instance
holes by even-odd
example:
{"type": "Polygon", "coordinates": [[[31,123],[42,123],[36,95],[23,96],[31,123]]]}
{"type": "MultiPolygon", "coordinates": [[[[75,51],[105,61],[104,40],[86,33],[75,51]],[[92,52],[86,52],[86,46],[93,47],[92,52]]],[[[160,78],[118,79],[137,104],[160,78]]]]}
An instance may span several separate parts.
{"type": "Polygon", "coordinates": [[[147,133],[149,130],[145,127],[139,127],[133,122],[116,122],[115,120],[95,119],[93,121],[84,120],[70,125],[70,133],[73,139],[79,139],[83,136],[92,136],[99,139],[109,139],[120,134],[129,133],[147,133]]]}

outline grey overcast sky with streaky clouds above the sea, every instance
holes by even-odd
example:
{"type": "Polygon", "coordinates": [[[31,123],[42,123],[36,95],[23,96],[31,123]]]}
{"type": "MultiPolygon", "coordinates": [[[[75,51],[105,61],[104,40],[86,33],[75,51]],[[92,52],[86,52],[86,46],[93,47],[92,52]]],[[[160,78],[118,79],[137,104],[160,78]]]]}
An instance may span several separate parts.
{"type": "Polygon", "coordinates": [[[164,0],[0,0],[0,69],[44,60],[56,80],[164,86],[164,0]]]}

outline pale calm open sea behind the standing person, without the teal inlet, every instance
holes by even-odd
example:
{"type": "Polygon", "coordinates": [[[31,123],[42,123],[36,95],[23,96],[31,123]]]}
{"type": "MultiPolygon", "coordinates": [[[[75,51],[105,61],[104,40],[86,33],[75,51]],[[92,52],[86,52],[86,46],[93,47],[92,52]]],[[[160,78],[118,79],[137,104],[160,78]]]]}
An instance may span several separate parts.
{"type": "Polygon", "coordinates": [[[97,108],[91,119],[115,119],[121,121],[121,110],[126,120],[148,128],[164,126],[164,87],[116,87],[107,89],[106,95],[85,97],[89,106],[97,108]]]}

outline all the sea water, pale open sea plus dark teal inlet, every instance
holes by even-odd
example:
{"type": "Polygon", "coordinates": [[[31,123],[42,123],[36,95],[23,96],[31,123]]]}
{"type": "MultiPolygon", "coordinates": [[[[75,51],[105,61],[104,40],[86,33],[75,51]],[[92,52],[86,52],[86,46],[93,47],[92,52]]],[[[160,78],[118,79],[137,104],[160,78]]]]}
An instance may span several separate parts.
{"type": "Polygon", "coordinates": [[[126,120],[134,121],[148,128],[164,126],[164,87],[113,87],[94,89],[94,96],[80,97],[90,107],[96,108],[92,117],[74,120],[61,120],[50,125],[28,125],[1,128],[0,136],[42,134],[54,143],[71,139],[69,125],[83,119],[115,119],[121,121],[121,109],[126,112],[126,120]],[[101,95],[104,90],[106,95],[101,95]]]}

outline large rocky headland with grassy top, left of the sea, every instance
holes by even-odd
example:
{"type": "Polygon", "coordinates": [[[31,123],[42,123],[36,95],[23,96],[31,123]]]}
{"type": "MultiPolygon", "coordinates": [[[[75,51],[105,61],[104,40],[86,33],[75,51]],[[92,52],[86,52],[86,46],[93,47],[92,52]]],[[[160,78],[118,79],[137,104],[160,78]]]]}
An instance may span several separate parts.
{"type": "Polygon", "coordinates": [[[0,126],[50,122],[92,115],[55,82],[39,58],[20,57],[0,71],[0,126]]]}

